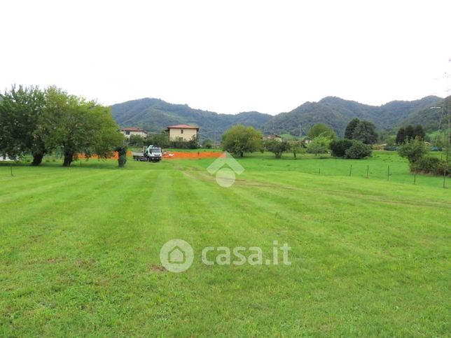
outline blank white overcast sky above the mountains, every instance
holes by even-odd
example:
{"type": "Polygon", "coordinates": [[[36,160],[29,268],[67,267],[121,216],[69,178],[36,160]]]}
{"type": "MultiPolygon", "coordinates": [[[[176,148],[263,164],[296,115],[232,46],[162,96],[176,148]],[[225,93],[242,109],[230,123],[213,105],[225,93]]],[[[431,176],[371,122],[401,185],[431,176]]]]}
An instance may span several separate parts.
{"type": "Polygon", "coordinates": [[[0,90],[275,115],[451,94],[451,1],[2,1],[0,90]]]}

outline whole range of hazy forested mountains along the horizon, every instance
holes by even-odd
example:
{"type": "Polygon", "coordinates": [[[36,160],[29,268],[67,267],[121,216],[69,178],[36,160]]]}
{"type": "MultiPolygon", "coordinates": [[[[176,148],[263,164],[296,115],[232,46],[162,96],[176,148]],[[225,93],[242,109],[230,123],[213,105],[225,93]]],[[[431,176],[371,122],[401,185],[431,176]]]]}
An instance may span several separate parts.
{"type": "Polygon", "coordinates": [[[318,102],[305,102],[288,113],[269,115],[249,111],[230,115],[146,98],[114,104],[111,112],[121,127],[142,127],[150,132],[160,132],[168,125],[183,123],[199,126],[201,139],[218,140],[226,129],[238,123],[256,127],[263,132],[295,136],[300,134],[301,125],[305,134],[319,122],[326,123],[338,136],[342,136],[347,122],[352,118],[370,120],[379,131],[394,131],[408,124],[421,124],[433,130],[438,126],[440,111],[430,107],[442,103],[442,98],[429,96],[415,101],[391,101],[382,106],[369,106],[339,97],[325,97],[318,102]]]}

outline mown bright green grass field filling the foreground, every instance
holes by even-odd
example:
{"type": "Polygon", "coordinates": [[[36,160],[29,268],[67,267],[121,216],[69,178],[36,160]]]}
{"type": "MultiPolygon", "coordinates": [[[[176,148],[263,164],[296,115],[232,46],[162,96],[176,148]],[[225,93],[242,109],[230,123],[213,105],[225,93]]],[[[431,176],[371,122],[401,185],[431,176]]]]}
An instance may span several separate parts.
{"type": "Polygon", "coordinates": [[[0,164],[0,335],[449,335],[443,178],[413,185],[396,153],[239,161],[230,188],[213,159],[50,161],[13,177],[0,164]],[[186,272],[162,269],[169,239],[193,246],[186,272]],[[201,260],[204,246],[268,256],[273,241],[291,265],[201,260]]]}

